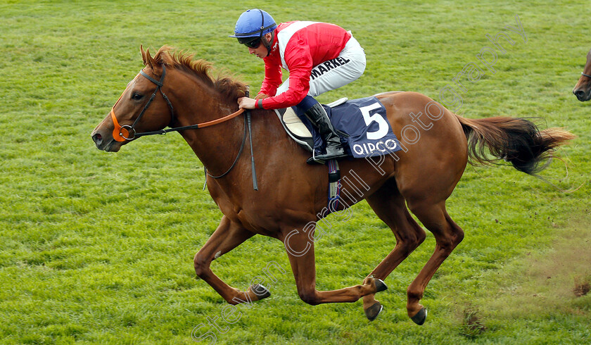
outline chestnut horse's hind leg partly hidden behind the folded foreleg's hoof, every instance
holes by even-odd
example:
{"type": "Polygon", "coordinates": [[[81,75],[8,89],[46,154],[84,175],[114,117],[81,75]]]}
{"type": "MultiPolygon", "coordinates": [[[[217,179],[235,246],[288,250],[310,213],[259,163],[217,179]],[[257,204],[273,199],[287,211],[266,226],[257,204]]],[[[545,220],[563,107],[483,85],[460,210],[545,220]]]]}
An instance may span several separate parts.
{"type": "MultiPolygon", "coordinates": [[[[394,179],[388,180],[366,200],[396,237],[394,249],[369,275],[369,277],[386,280],[386,277],[423,243],[425,232],[408,212],[405,199],[400,195],[394,179]]],[[[374,320],[381,311],[381,304],[374,299],[374,294],[369,294],[363,297],[363,309],[367,318],[374,320]]]]}

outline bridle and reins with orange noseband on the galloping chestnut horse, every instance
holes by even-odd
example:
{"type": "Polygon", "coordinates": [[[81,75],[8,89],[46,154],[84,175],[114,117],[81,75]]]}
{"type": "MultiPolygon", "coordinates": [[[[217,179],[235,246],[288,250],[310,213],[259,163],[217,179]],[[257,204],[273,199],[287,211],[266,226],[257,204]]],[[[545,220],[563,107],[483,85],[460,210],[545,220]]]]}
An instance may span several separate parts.
{"type": "MultiPolygon", "coordinates": [[[[117,118],[115,117],[115,106],[117,106],[117,103],[119,103],[119,101],[121,100],[121,97],[123,96],[123,94],[125,94],[125,91],[123,92],[123,94],[121,94],[119,99],[117,99],[117,102],[115,102],[115,105],[113,106],[113,108],[111,108],[111,111],[110,111],[111,119],[113,119],[113,125],[115,125],[115,128],[113,129],[113,139],[115,139],[115,141],[117,141],[117,142],[125,142],[125,140],[134,140],[139,137],[144,137],[146,135],[166,134],[168,132],[178,132],[181,130],[194,130],[194,129],[198,129],[198,128],[209,127],[212,125],[217,125],[218,123],[223,123],[224,121],[230,120],[230,119],[235,118],[236,116],[240,115],[241,113],[244,113],[244,109],[240,108],[238,111],[236,111],[236,113],[231,113],[230,115],[226,115],[223,118],[218,118],[218,119],[211,120],[211,121],[208,121],[205,123],[198,123],[196,125],[189,125],[189,126],[182,126],[182,127],[174,127],[174,128],[169,128],[167,130],[156,130],[153,132],[136,133],[136,130],[135,130],[136,124],[139,122],[141,117],[144,116],[144,113],[146,113],[146,110],[148,109],[148,107],[150,106],[152,101],[154,100],[158,91],[160,91],[160,94],[162,94],[166,103],[168,104],[168,108],[170,108],[170,116],[171,116],[170,123],[172,123],[174,121],[174,108],[172,108],[172,103],[170,103],[170,100],[162,91],[162,87],[164,85],[164,77],[166,75],[166,66],[164,64],[162,65],[162,77],[160,77],[160,80],[155,80],[153,77],[150,77],[149,75],[147,75],[144,72],[144,70],[140,70],[139,74],[143,75],[148,80],[150,80],[151,82],[156,84],[156,89],[152,93],[152,96],[150,96],[148,103],[146,103],[144,108],[141,110],[141,113],[139,113],[138,117],[136,118],[136,120],[134,121],[134,123],[131,126],[130,125],[119,125],[119,123],[117,122],[117,118]]],[[[236,155],[236,159],[234,159],[234,163],[232,163],[232,165],[230,166],[230,168],[226,172],[224,172],[222,175],[219,175],[219,176],[210,175],[210,173],[207,172],[207,169],[206,169],[205,172],[210,177],[213,177],[216,179],[220,178],[220,177],[224,177],[225,175],[228,174],[228,172],[230,172],[230,170],[232,170],[232,168],[234,168],[234,165],[236,165],[236,162],[238,161],[238,158],[240,157],[240,155],[244,149],[244,144],[246,143],[246,129],[247,129],[247,126],[246,126],[246,117],[245,117],[244,118],[244,134],[243,134],[243,138],[242,138],[242,144],[240,146],[240,150],[238,152],[238,155],[236,155]]],[[[252,150],[252,146],[251,146],[251,150],[252,150]]]]}

